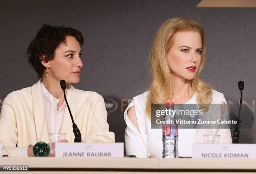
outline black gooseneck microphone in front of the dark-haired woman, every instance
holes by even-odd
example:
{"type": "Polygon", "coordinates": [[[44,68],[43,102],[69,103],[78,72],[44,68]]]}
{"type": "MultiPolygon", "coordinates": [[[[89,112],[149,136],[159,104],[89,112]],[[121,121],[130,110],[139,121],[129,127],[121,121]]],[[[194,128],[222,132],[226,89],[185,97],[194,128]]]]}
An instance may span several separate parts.
{"type": "Polygon", "coordinates": [[[74,136],[75,136],[74,142],[81,142],[82,141],[81,133],[80,133],[78,127],[77,127],[77,124],[75,124],[75,122],[74,122],[72,113],[71,113],[70,108],[69,108],[69,104],[67,102],[67,98],[66,98],[66,94],[65,94],[65,89],[66,89],[66,82],[65,82],[65,80],[61,80],[60,81],[60,85],[61,85],[61,89],[63,89],[64,99],[65,99],[65,101],[67,103],[67,107],[69,109],[69,114],[70,114],[70,117],[71,117],[71,120],[72,120],[72,124],[73,124],[73,132],[74,132],[74,136]]]}

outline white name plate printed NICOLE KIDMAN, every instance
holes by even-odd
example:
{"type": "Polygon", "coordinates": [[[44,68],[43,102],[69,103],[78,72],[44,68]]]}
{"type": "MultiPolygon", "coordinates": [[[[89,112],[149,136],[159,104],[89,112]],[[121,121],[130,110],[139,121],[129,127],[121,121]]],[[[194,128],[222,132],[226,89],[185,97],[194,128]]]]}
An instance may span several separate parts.
{"type": "Polygon", "coordinates": [[[256,158],[256,144],[193,144],[192,158],[256,158]]]}

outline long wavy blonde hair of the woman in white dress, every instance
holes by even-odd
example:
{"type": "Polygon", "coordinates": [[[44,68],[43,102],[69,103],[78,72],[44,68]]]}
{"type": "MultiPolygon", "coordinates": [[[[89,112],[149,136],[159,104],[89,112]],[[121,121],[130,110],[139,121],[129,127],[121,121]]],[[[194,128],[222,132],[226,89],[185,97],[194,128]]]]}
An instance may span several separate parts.
{"type": "Polygon", "coordinates": [[[154,36],[150,52],[150,70],[152,77],[151,91],[148,95],[146,113],[151,116],[151,104],[165,103],[171,95],[172,79],[166,55],[173,44],[173,36],[177,32],[196,31],[202,39],[201,63],[195,78],[189,80],[189,91],[196,92],[197,102],[204,111],[212,102],[212,88],[200,80],[200,72],[205,63],[205,31],[194,20],[187,17],[174,17],[164,22],[154,36]],[[205,107],[206,106],[206,107],[205,107]]]}

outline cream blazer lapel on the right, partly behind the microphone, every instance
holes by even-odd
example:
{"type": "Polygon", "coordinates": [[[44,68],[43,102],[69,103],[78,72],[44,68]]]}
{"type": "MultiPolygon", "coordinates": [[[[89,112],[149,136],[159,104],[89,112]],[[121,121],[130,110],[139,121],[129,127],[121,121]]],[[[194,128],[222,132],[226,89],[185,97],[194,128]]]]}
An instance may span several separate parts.
{"type": "MultiPolygon", "coordinates": [[[[76,111],[77,111],[77,93],[75,92],[75,88],[68,84],[68,93],[67,93],[67,101],[69,103],[69,107],[75,122],[76,111]]],[[[69,110],[67,108],[67,104],[64,111],[64,117],[61,124],[60,133],[66,133],[66,139],[68,142],[74,142],[74,133],[73,133],[73,125],[72,120],[69,114],[69,110]]]]}

